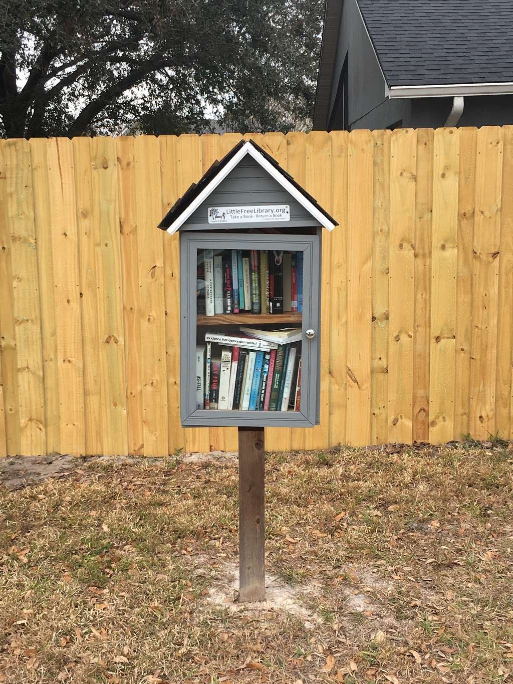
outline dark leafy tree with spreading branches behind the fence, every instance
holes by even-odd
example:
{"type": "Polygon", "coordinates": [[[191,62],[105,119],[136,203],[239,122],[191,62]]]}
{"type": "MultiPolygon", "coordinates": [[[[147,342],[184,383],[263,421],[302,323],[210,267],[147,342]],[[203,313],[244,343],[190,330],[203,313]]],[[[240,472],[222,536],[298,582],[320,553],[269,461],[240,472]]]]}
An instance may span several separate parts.
{"type": "Polygon", "coordinates": [[[8,137],[286,131],[313,108],[323,0],[0,0],[8,137]]]}

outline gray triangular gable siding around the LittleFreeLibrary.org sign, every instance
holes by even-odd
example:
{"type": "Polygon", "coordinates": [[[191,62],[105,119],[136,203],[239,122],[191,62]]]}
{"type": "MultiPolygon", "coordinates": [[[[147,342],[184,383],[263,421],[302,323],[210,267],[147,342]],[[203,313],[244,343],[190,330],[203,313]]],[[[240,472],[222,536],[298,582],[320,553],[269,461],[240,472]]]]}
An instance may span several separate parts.
{"type": "Polygon", "coordinates": [[[209,207],[226,207],[237,205],[240,207],[251,205],[289,205],[290,222],[280,222],[281,228],[300,226],[320,226],[309,211],[295,200],[287,190],[269,176],[257,161],[246,155],[239,164],[226,176],[224,181],[211,192],[207,200],[192,213],[184,224],[184,228],[205,228],[219,230],[220,228],[261,228],[269,227],[267,222],[244,224],[209,224],[209,207]],[[248,182],[250,190],[248,190],[248,182]]]}

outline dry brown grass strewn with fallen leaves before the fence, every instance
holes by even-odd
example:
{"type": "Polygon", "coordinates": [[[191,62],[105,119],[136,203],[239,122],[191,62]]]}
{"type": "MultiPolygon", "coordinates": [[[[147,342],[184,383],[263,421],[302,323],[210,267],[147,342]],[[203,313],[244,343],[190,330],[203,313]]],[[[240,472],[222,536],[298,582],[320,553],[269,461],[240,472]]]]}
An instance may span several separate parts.
{"type": "Polygon", "coordinates": [[[267,567],[309,620],[209,599],[237,557],[235,461],[77,460],[4,491],[0,681],[513,681],[512,463],[269,454],[267,567]]]}

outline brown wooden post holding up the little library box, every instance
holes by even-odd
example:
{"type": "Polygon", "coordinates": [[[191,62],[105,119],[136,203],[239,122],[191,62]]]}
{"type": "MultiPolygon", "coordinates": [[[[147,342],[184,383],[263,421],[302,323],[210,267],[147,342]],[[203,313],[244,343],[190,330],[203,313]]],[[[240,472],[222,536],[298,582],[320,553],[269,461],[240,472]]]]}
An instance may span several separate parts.
{"type": "Polygon", "coordinates": [[[263,428],[239,428],[239,601],[265,601],[263,428]]]}

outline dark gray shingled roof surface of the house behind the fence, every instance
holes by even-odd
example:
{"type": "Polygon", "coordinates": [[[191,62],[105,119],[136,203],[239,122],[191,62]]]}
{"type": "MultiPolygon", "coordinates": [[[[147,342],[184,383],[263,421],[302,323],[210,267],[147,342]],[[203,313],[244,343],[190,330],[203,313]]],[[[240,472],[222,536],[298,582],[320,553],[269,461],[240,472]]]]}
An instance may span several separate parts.
{"type": "Polygon", "coordinates": [[[357,0],[389,86],[513,81],[513,0],[357,0]]]}

